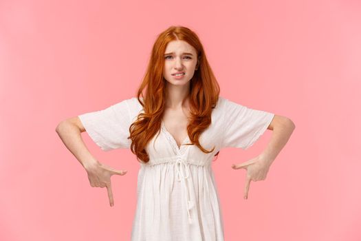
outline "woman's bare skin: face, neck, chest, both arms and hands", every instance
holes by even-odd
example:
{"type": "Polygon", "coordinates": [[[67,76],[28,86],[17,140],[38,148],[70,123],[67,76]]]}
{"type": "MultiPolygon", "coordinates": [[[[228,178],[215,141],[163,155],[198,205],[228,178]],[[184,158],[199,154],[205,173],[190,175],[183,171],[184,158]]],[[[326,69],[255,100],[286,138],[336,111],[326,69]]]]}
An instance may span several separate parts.
{"type": "MultiPolygon", "coordinates": [[[[171,41],[166,47],[165,53],[173,52],[171,55],[164,56],[163,76],[166,80],[166,109],[163,116],[164,124],[168,132],[175,138],[177,145],[182,144],[186,138],[186,126],[188,123],[188,98],[190,79],[199,67],[197,61],[197,52],[193,46],[185,41],[171,41]],[[185,52],[193,56],[184,54],[185,52]],[[179,71],[186,72],[181,80],[176,80],[171,74],[179,71]]],[[[244,163],[232,165],[233,169],[245,169],[247,171],[244,187],[244,198],[248,198],[250,182],[265,180],[270,165],[278,153],[287,143],[295,128],[294,123],[285,116],[275,115],[268,129],[273,131],[272,138],[267,147],[255,158],[244,163]]],[[[81,133],[85,128],[78,116],[61,121],[56,127],[56,132],[61,138],[67,149],[72,152],[81,165],[87,171],[87,176],[91,187],[107,187],[109,204],[114,206],[113,192],[111,189],[111,176],[123,176],[127,174],[126,170],[118,170],[100,163],[87,149],[81,133]]]]}

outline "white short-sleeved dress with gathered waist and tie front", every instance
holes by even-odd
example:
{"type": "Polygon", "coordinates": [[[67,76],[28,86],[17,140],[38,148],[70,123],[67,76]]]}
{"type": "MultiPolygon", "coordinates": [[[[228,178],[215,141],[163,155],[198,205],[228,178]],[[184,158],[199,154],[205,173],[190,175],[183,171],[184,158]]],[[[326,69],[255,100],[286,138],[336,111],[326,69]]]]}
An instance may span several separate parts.
{"type": "MultiPolygon", "coordinates": [[[[104,151],[130,148],[129,126],[142,105],[133,97],[95,112],[80,114],[87,134],[104,151]]],[[[274,114],[250,109],[219,96],[212,123],[195,145],[181,145],[167,132],[146,146],[149,163],[140,163],[138,202],[132,241],[223,241],[223,220],[211,164],[223,147],[248,149],[265,132],[274,114]]],[[[187,137],[182,144],[189,143],[187,137]]],[[[136,161],[136,159],[135,159],[136,161]]],[[[138,162],[137,162],[138,163],[138,162]]]]}

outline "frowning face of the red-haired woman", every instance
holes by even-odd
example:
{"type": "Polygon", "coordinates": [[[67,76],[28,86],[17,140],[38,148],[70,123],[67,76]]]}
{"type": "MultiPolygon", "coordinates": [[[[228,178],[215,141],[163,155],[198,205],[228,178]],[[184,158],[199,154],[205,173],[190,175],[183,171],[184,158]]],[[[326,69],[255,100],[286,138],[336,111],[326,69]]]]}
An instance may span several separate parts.
{"type": "Polygon", "coordinates": [[[188,85],[195,73],[197,52],[186,41],[171,41],[164,53],[163,76],[171,85],[188,85]],[[182,76],[175,76],[177,72],[184,72],[182,76]]]}

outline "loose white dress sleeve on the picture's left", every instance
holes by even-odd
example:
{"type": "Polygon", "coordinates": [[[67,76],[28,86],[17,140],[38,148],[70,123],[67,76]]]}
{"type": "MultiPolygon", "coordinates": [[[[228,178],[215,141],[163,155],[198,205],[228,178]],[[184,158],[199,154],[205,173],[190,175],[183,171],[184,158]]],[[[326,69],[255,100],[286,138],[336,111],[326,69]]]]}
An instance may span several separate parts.
{"type": "Polygon", "coordinates": [[[78,116],[87,134],[103,151],[130,148],[130,111],[127,100],[106,109],[88,112],[78,116]]]}

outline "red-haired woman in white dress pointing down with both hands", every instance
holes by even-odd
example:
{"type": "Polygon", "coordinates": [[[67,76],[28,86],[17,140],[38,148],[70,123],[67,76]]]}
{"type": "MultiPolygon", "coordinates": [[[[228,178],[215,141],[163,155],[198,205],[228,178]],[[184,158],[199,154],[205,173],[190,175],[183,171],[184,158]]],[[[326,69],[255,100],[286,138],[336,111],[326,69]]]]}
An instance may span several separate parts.
{"type": "Polygon", "coordinates": [[[294,124],[219,96],[197,34],[172,26],[153,45],[137,97],[64,121],[57,132],[85,167],[91,187],[107,187],[111,206],[111,175],[126,171],[98,162],[80,132],[87,131],[104,151],[129,148],[137,156],[138,204],[131,240],[223,240],[212,158],[223,147],[248,149],[267,128],[274,134],[265,151],[232,165],[248,171],[245,198],[251,180],[265,179],[294,124]],[[65,134],[69,129],[74,135],[65,134]]]}

